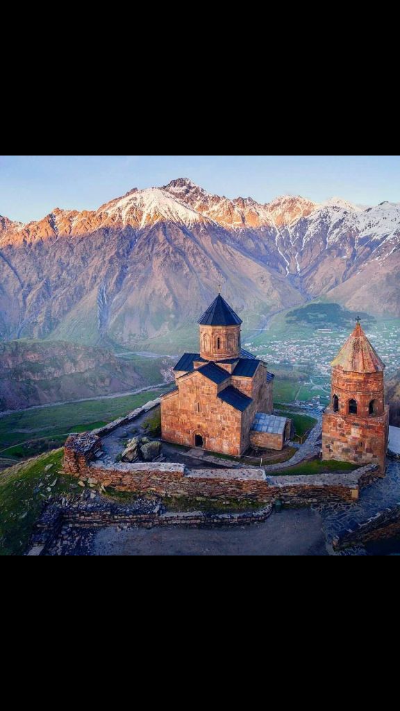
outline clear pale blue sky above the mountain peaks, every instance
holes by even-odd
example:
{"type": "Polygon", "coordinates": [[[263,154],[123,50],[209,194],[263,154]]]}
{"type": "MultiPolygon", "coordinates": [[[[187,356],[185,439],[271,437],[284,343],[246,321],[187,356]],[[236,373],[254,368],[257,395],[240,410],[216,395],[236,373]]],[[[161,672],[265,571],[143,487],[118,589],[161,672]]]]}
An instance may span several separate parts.
{"type": "Polygon", "coordinates": [[[400,156],[0,156],[0,215],[28,222],[56,207],[95,210],[173,178],[261,203],[285,194],[400,202],[400,156]]]}

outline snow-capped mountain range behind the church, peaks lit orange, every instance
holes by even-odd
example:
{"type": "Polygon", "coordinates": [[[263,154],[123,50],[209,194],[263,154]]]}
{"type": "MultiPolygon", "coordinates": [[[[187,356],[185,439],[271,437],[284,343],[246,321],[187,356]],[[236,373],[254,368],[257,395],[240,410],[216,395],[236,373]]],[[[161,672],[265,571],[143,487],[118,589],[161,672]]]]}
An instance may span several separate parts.
{"type": "Polygon", "coordinates": [[[191,324],[218,284],[252,326],[325,295],[400,314],[400,203],[270,203],[186,178],[98,210],[0,217],[0,338],[136,343],[191,324]]]}

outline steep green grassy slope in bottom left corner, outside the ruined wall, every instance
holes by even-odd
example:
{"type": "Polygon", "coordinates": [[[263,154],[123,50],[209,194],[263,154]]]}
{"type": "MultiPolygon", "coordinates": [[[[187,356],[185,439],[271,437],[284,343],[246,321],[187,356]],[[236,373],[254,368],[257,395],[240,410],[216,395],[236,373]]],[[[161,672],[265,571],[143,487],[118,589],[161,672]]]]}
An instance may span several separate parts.
{"type": "Polygon", "coordinates": [[[58,449],[0,474],[0,555],[23,555],[43,503],[70,493],[75,482],[59,474],[62,459],[63,449],[58,449]]]}

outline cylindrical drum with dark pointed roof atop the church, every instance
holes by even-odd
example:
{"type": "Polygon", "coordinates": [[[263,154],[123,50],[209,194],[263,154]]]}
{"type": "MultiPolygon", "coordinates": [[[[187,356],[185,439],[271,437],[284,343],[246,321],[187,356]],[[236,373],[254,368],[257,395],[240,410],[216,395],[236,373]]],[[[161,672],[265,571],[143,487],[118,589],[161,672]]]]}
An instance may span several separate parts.
{"type": "Polygon", "coordinates": [[[204,360],[241,356],[241,319],[219,294],[199,319],[200,355],[204,360]]]}

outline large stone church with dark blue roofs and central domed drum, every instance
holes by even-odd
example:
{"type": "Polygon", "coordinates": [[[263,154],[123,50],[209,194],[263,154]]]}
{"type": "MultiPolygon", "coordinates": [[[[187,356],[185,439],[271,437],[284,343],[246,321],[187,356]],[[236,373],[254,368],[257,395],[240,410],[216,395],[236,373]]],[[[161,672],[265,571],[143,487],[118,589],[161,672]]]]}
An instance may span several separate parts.
{"type": "Polygon", "coordinates": [[[274,376],[241,348],[241,319],[219,294],[198,323],[200,353],[182,355],[162,395],[162,439],[233,456],[282,449],[291,421],[272,415],[274,376]]]}

